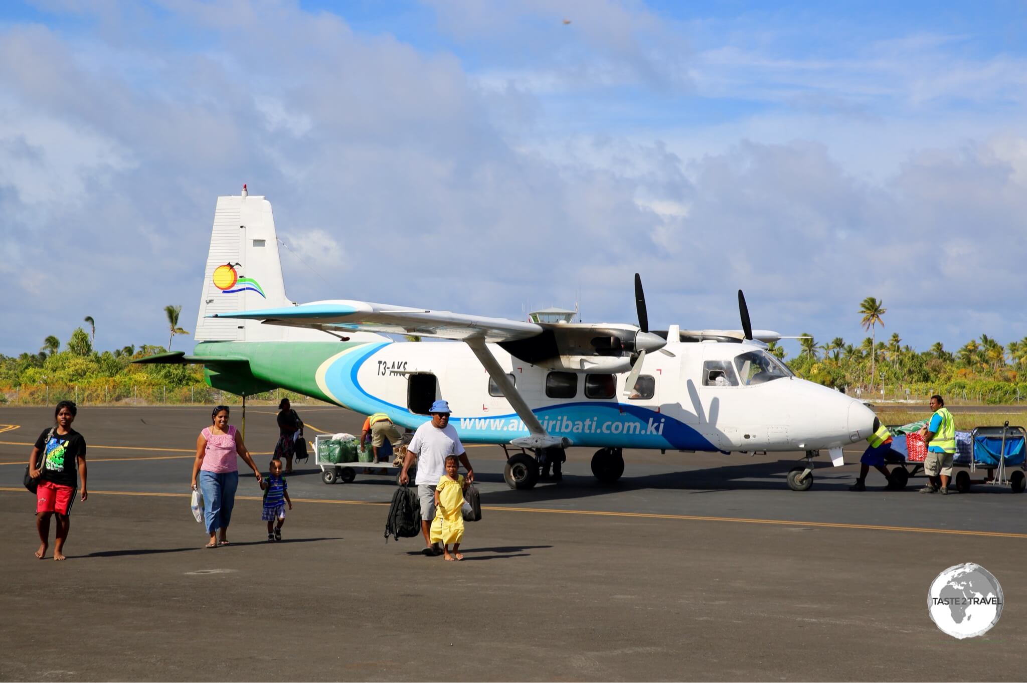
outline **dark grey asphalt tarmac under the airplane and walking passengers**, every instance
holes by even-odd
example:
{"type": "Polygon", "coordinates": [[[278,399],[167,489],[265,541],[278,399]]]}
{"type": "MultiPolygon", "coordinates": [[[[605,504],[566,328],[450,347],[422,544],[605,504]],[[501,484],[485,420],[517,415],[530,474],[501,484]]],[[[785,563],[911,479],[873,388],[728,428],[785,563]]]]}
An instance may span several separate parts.
{"type": "MultiPolygon", "coordinates": [[[[363,416],[296,406],[316,431],[363,416]]],[[[273,407],[249,407],[264,468],[273,407]]],[[[468,448],[483,520],[464,562],[383,539],[390,477],[289,480],[295,509],[265,540],[240,472],[229,538],[205,549],[187,510],[208,408],[81,408],[88,490],[65,553],[43,562],[22,487],[52,409],[0,408],[0,680],[1019,680],[1027,632],[1027,496],[1009,487],[918,495],[922,480],[849,492],[858,464],[800,454],[624,453],[604,487],[591,451],[564,481],[511,491],[497,447],[468,448]],[[976,562],[1001,582],[1001,620],[955,640],[927,589],[976,562]]],[[[241,415],[233,409],[232,422],[241,415]]],[[[863,448],[846,449],[857,463],[863,448]]],[[[244,465],[242,466],[244,469],[244,465]]]]}

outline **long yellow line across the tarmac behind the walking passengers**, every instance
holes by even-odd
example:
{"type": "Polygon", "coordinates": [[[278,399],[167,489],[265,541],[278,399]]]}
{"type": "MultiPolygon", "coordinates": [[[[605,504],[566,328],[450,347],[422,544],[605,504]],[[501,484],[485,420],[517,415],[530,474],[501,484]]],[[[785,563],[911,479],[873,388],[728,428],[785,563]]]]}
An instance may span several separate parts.
{"type": "MultiPolygon", "coordinates": [[[[24,491],[13,487],[0,487],[0,491],[24,491]]],[[[145,491],[89,491],[90,494],[112,496],[152,496],[162,498],[188,498],[188,493],[158,493],[145,491]]],[[[235,496],[239,500],[263,500],[261,496],[235,496]]],[[[368,500],[329,500],[326,498],[295,498],[296,502],[328,503],[332,505],[379,505],[389,503],[368,500]]],[[[955,536],[986,536],[989,538],[1027,538],[1027,534],[1001,531],[966,531],[961,529],[927,529],[923,527],[890,527],[876,524],[845,524],[841,522],[798,522],[790,520],[758,520],[738,517],[706,517],[701,515],[659,515],[655,513],[611,513],[595,509],[556,509],[553,507],[507,507],[482,505],[482,509],[502,513],[543,513],[555,515],[587,515],[593,517],[630,517],[643,520],[678,520],[682,522],[735,522],[739,524],[770,524],[786,527],[823,527],[826,529],[862,529],[866,531],[905,531],[910,533],[948,534],[955,536]]]]}

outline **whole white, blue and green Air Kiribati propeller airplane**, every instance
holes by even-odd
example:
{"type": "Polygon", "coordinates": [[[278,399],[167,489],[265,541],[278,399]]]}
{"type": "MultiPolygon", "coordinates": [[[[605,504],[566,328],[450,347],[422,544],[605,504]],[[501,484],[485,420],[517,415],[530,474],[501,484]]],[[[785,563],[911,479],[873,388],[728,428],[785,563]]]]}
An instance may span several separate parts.
{"type": "Polygon", "coordinates": [[[219,197],[193,353],[144,363],[198,363],[207,383],[242,396],[284,388],[415,429],[446,399],[460,439],[507,451],[505,480],[530,489],[540,455],[594,448],[593,473],[615,482],[624,449],[802,451],[788,475],[812,484],[812,458],[866,440],[879,422],[862,402],[796,377],[767,351],[782,336],[741,330],[524,321],[412,306],[288,299],[270,202],[219,197]],[[450,343],[397,342],[418,335],[450,343]]]}

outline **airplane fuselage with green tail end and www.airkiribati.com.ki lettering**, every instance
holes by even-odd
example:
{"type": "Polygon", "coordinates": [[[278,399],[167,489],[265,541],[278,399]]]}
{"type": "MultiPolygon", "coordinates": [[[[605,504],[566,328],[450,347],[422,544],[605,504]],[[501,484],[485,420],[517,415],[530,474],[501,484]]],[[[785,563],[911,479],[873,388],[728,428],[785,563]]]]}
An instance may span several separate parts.
{"type": "MultiPolygon", "coordinates": [[[[643,389],[631,395],[626,372],[553,371],[498,345],[489,349],[543,428],[573,447],[819,450],[864,440],[873,430],[868,408],[828,387],[794,376],[747,383],[739,358],[765,352],[748,344],[668,343],[673,355],[647,355],[636,385],[643,389]],[[710,381],[710,368],[717,367],[732,375],[733,385],[710,381]]],[[[195,355],[246,358],[244,376],[244,369],[207,370],[212,386],[236,393],[282,387],[358,413],[384,412],[412,429],[429,419],[427,407],[441,397],[450,403],[450,423],[467,443],[509,444],[529,433],[459,342],[203,342],[195,355]]]]}

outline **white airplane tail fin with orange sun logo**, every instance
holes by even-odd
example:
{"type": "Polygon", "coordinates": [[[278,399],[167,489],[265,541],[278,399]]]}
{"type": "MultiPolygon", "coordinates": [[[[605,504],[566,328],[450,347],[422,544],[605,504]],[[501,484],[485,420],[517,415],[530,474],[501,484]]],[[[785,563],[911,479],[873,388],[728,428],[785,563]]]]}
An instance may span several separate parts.
{"type": "Polygon", "coordinates": [[[203,272],[196,341],[284,339],[284,330],[258,320],[206,316],[291,303],[281,276],[271,202],[262,196],[249,196],[245,185],[241,195],[218,197],[203,272]]]}

